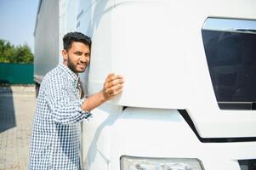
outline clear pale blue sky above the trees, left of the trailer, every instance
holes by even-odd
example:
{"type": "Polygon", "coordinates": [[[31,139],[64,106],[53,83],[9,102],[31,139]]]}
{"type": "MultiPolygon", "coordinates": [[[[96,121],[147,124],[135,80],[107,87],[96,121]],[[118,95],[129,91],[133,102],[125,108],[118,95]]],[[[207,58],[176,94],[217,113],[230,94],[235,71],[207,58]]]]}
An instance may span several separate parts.
{"type": "Polygon", "coordinates": [[[0,39],[14,46],[27,43],[34,52],[39,0],[0,0],[0,39]]]}

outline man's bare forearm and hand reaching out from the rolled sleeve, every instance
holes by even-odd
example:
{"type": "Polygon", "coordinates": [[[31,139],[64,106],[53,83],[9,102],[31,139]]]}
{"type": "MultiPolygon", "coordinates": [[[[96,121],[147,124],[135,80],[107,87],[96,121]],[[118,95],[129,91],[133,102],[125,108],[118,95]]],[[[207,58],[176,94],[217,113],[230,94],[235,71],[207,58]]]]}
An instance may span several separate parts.
{"type": "Polygon", "coordinates": [[[82,111],[92,111],[94,108],[105,103],[118,94],[122,93],[123,78],[122,76],[109,74],[105,79],[103,89],[86,99],[82,104],[82,111]]]}

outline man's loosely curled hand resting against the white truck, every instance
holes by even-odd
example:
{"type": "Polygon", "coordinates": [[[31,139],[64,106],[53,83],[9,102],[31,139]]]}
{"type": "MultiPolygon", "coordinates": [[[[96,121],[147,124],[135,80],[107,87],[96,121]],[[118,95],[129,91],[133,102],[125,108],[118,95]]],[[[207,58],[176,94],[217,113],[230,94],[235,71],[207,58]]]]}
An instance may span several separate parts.
{"type": "Polygon", "coordinates": [[[104,87],[102,93],[104,100],[107,101],[122,93],[123,78],[120,75],[115,75],[113,73],[109,74],[105,79],[104,87]]]}

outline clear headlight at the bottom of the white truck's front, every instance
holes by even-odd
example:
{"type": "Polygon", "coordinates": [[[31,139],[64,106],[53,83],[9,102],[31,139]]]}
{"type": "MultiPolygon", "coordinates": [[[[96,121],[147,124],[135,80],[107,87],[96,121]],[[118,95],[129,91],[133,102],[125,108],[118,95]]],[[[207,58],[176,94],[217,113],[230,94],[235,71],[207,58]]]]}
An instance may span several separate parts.
{"type": "Polygon", "coordinates": [[[121,170],[203,170],[202,163],[193,158],[121,157],[121,170]]]}

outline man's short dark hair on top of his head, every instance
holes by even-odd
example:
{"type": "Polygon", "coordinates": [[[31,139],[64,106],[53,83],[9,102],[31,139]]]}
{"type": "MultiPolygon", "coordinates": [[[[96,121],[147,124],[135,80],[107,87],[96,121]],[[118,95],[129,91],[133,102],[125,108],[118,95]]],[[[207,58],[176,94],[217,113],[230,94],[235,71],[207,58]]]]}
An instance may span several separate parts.
{"type": "Polygon", "coordinates": [[[63,48],[68,51],[71,48],[72,42],[82,42],[91,48],[91,38],[81,32],[68,32],[63,37],[63,48]]]}

